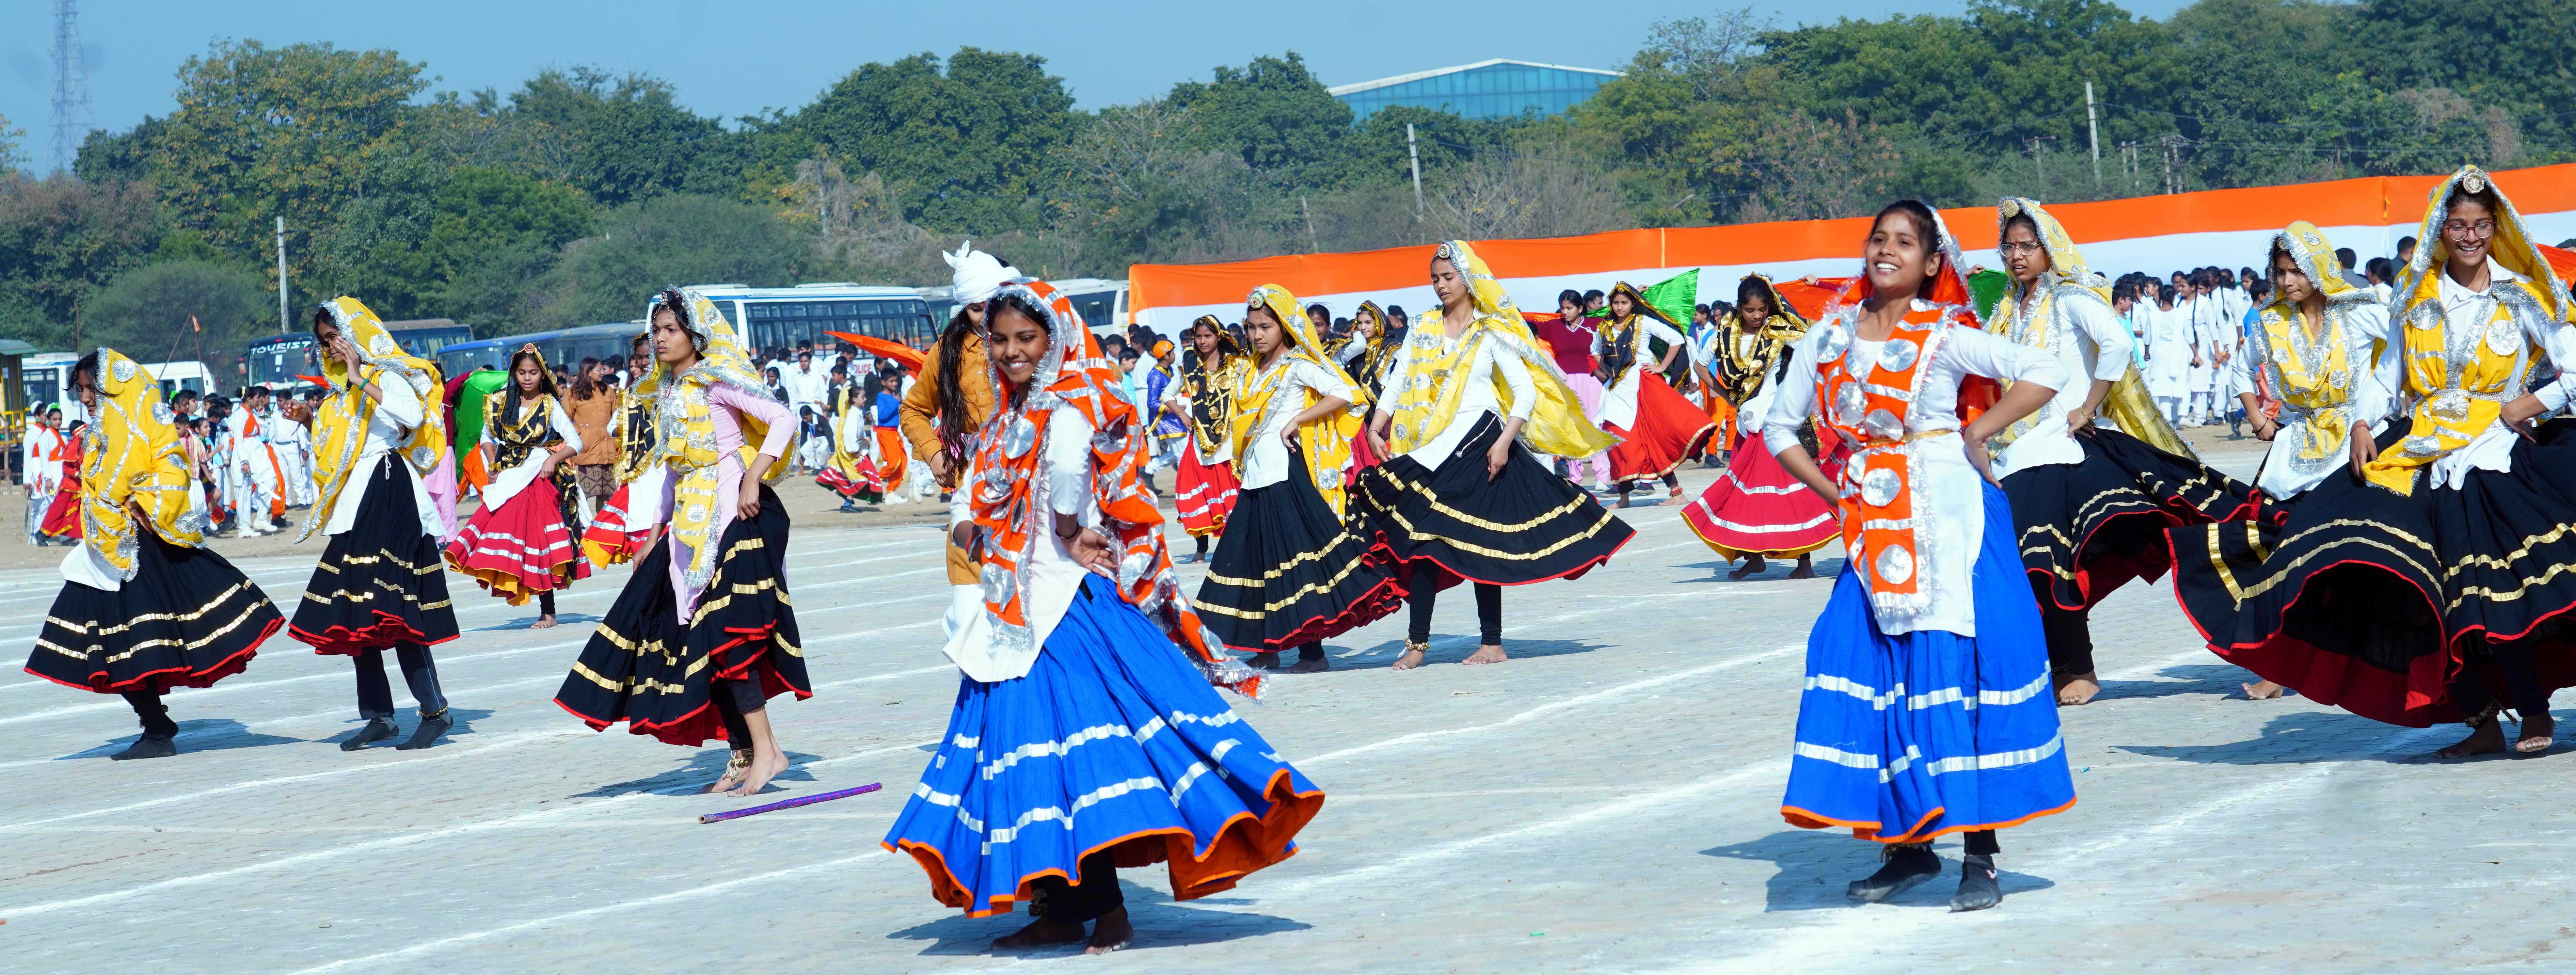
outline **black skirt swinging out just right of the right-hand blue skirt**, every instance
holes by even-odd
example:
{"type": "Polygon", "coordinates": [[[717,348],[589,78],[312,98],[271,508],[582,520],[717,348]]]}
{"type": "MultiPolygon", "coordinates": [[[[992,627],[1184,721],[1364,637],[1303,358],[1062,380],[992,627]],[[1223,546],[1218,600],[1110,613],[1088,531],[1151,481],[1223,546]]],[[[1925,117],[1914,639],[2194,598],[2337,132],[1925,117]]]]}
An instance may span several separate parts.
{"type": "Polygon", "coordinates": [[[2254,491],[2208,463],[2148,448],[2117,430],[2074,437],[2081,463],[2004,478],[2022,569],[2043,605],[2092,610],[2130,579],[2172,569],[2164,530],[2251,512],[2254,491]]]}

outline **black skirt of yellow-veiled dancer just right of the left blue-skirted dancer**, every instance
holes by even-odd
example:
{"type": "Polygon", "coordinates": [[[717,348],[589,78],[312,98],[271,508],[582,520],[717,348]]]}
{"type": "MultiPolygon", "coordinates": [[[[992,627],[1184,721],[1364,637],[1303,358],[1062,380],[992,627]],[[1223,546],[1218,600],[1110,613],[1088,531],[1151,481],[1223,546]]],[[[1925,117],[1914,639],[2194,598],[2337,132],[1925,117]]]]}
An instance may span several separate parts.
{"type": "Polygon", "coordinates": [[[1280,651],[1342,635],[1404,605],[1404,584],[1370,558],[1316,491],[1306,460],[1288,478],[1236,494],[1234,517],[1198,584],[1198,620],[1236,651],[1280,651]]]}

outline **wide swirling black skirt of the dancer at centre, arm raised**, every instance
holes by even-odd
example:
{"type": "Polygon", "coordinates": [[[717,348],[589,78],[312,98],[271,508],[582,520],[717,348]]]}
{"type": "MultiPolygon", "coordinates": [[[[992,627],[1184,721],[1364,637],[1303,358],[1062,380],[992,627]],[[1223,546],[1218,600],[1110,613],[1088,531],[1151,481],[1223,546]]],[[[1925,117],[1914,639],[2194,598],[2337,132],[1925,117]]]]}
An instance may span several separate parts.
{"type": "Polygon", "coordinates": [[[1502,422],[1484,414],[1435,471],[1406,455],[1360,471],[1352,512],[1406,589],[1461,579],[1502,587],[1574,579],[1636,538],[1628,522],[1520,442],[1502,473],[1486,478],[1484,453],[1494,437],[1502,422]]]}

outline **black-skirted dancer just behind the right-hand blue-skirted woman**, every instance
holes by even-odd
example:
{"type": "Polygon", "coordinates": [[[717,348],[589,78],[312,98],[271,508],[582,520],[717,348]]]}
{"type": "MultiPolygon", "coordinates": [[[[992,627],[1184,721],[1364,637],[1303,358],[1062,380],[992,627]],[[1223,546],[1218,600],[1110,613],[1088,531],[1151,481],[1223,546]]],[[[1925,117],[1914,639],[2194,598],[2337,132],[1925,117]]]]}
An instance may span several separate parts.
{"type": "MultiPolygon", "coordinates": [[[[1999,203],[2012,273],[1994,334],[2035,347],[2069,376],[2058,394],[1994,437],[2020,551],[2048,630],[2048,666],[2061,705],[2099,692],[2092,607],[2130,579],[2172,569],[2164,530],[2249,509],[2251,489],[2190,455],[2146,396],[2128,358],[2130,334],[2110,309],[2110,280],[2084,268],[2071,237],[2038,201],[1999,203]],[[2110,414],[2120,430],[2092,422],[2110,414]]],[[[2009,388],[2009,383],[2007,383],[2009,388]]]]}

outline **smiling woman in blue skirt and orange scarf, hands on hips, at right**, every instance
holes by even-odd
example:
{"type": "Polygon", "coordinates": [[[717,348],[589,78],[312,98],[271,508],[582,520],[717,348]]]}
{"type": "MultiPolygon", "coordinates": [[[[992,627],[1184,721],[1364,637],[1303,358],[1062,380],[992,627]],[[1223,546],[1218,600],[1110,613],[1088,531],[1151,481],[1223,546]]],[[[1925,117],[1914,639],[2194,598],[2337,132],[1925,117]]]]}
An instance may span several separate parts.
{"type": "Polygon", "coordinates": [[[1878,211],[1862,278],[1798,342],[1762,442],[1842,512],[1847,553],[1806,638],[1780,816],[1886,844],[1886,864],[1850,888],[1860,903],[1932,880],[1932,839],[1968,834],[1950,911],[1981,911],[2004,898],[1994,831],[2076,800],[2040,607],[1986,455],[2069,373],[1978,332],[1958,268],[1932,208],[1878,211]],[[1991,399],[1991,381],[2012,386],[1991,399]],[[1808,414],[1852,445],[1842,484],[1798,445],[1808,414]]]}

